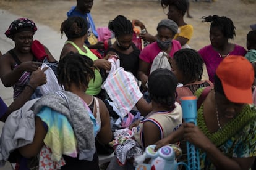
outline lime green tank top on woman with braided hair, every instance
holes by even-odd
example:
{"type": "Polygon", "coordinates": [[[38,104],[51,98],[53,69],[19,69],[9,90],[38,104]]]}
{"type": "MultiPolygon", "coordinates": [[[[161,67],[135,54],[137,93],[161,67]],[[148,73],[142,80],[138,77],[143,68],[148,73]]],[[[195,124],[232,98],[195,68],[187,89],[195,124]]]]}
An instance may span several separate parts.
{"type": "MultiPolygon", "coordinates": [[[[90,51],[90,49],[88,49],[87,46],[85,46],[85,45],[83,46],[87,51],[87,53],[85,53],[74,42],[66,41],[65,44],[67,44],[67,43],[72,44],[72,46],[74,46],[75,49],[77,49],[79,54],[86,55],[93,61],[98,60],[98,57],[95,54],[93,54],[92,51],[90,51]]],[[[93,80],[93,79],[90,80],[90,82],[88,84],[87,91],[86,91],[86,94],[89,94],[89,95],[97,95],[101,91],[102,77],[100,75],[100,71],[95,69],[94,73],[95,73],[95,80],[93,80]]]]}

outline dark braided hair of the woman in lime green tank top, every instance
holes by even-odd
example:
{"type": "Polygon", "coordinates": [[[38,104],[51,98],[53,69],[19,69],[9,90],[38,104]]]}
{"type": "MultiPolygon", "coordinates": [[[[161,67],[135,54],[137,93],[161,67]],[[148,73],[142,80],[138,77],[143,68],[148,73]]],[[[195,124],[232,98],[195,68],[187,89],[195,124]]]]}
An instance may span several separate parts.
{"type": "Polygon", "coordinates": [[[61,23],[61,38],[63,33],[66,34],[67,39],[79,38],[84,36],[88,31],[88,23],[85,18],[72,16],[61,23]]]}

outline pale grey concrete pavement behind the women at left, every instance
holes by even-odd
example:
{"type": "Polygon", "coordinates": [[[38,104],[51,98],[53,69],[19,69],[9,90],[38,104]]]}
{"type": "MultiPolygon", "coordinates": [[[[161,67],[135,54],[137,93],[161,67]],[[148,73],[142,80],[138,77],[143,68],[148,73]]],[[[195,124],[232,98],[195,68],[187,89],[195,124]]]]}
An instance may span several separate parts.
{"type": "MultiPolygon", "coordinates": [[[[2,54],[5,54],[9,49],[14,47],[14,42],[7,38],[4,32],[7,30],[13,20],[21,17],[22,16],[17,16],[7,12],[6,10],[0,9],[0,51],[2,54]]],[[[54,58],[59,60],[59,55],[66,39],[61,39],[61,33],[54,31],[53,29],[49,28],[49,26],[41,25],[40,23],[36,23],[36,26],[38,31],[36,31],[34,39],[38,39],[42,44],[48,47],[54,58]]],[[[10,105],[12,103],[12,87],[6,88],[3,86],[2,82],[0,82],[0,96],[4,102],[7,103],[7,105],[10,105]]],[[[2,125],[3,123],[0,123],[0,130],[2,129],[2,125]]],[[[11,170],[12,168],[9,163],[6,163],[6,166],[0,169],[11,170]]]]}

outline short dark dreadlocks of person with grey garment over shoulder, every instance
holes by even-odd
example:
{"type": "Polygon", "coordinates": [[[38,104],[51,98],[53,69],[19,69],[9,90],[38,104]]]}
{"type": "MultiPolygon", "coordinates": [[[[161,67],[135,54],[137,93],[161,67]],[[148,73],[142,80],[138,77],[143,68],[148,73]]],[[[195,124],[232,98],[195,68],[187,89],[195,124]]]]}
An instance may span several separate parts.
{"type": "Polygon", "coordinates": [[[80,84],[85,84],[88,87],[89,81],[95,78],[95,68],[92,59],[71,51],[59,60],[57,71],[59,84],[68,87],[72,83],[78,87],[80,84]]]}

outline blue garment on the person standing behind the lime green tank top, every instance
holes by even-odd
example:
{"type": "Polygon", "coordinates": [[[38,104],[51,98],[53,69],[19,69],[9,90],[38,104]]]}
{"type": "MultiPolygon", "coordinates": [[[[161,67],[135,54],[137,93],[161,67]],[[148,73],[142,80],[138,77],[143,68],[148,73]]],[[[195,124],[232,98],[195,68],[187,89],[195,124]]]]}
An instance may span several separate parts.
{"type": "Polygon", "coordinates": [[[98,38],[98,33],[96,31],[92,15],[90,13],[82,14],[81,12],[75,10],[76,6],[72,6],[69,12],[67,12],[67,17],[72,17],[72,16],[80,16],[85,18],[87,20],[88,25],[90,26],[92,33],[98,38]]]}

